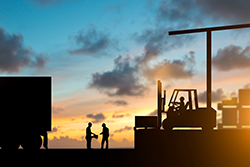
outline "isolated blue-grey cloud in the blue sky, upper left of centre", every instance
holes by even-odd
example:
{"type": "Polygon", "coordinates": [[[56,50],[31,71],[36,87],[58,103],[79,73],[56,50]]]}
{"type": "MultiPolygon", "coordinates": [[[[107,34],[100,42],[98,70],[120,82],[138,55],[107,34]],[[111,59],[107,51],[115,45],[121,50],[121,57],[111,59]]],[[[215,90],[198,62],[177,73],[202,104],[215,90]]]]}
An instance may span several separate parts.
{"type": "Polygon", "coordinates": [[[80,30],[73,37],[74,42],[80,45],[79,48],[69,50],[70,55],[93,55],[101,53],[104,55],[105,50],[110,47],[116,47],[118,41],[111,39],[108,33],[97,31],[95,26],[90,25],[87,31],[80,30]]]}

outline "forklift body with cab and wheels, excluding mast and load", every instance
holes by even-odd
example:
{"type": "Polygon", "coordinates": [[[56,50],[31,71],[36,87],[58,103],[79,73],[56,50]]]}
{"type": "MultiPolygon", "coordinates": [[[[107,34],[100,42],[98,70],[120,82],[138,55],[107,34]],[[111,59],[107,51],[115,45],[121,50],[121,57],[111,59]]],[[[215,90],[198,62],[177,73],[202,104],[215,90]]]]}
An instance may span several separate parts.
{"type": "Polygon", "coordinates": [[[163,121],[165,130],[172,130],[174,127],[202,127],[203,130],[212,130],[216,125],[216,111],[213,108],[199,108],[196,89],[175,89],[168,107],[167,111],[163,111],[167,113],[167,118],[163,121]],[[180,97],[181,102],[177,102],[181,93],[188,95],[186,104],[183,96],[180,97]]]}

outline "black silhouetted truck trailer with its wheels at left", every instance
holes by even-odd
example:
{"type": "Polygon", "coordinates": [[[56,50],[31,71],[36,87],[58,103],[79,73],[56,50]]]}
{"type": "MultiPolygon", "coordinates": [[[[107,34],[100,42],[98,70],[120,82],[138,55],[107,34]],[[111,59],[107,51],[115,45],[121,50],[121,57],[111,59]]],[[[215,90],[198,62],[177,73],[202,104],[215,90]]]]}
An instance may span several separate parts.
{"type": "Polygon", "coordinates": [[[51,131],[51,76],[0,77],[0,147],[48,148],[51,131]],[[43,136],[43,142],[42,137],[43,136]]]}

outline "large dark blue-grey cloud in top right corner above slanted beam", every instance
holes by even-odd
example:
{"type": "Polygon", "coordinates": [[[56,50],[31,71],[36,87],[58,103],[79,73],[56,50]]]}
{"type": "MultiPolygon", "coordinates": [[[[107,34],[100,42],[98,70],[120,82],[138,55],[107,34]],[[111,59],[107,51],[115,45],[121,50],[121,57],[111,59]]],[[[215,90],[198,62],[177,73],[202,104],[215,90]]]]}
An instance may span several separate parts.
{"type": "Polygon", "coordinates": [[[249,22],[249,7],[250,2],[237,0],[161,1],[156,20],[158,23],[177,23],[178,29],[211,25],[211,22],[240,24],[249,22]]]}

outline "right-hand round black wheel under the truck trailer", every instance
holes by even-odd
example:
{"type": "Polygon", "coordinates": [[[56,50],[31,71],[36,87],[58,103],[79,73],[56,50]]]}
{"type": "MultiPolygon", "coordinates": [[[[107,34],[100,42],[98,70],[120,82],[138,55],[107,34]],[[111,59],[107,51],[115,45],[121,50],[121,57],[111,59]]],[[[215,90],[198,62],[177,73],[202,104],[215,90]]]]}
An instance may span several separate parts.
{"type": "Polygon", "coordinates": [[[41,145],[42,138],[40,135],[26,135],[21,142],[23,149],[40,149],[41,145]]]}

